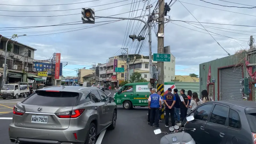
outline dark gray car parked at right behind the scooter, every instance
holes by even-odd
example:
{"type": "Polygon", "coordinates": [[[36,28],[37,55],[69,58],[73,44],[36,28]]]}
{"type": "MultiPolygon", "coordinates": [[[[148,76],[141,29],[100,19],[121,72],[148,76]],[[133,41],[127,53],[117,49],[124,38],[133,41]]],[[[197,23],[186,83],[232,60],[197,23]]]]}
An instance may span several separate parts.
{"type": "MultiPolygon", "coordinates": [[[[186,128],[197,144],[256,143],[256,102],[223,100],[206,102],[191,111],[195,119],[186,128]]],[[[182,122],[184,125],[186,121],[182,122]]]]}

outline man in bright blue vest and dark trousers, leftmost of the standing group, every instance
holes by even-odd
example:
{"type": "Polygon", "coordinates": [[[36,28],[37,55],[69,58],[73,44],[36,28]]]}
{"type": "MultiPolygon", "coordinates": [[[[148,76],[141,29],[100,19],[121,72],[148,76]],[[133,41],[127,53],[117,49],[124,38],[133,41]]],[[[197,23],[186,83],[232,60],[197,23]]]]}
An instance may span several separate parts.
{"type": "Polygon", "coordinates": [[[150,126],[155,122],[156,127],[159,127],[159,109],[162,108],[161,97],[156,93],[156,89],[151,90],[152,94],[148,98],[148,108],[150,109],[150,126]]]}

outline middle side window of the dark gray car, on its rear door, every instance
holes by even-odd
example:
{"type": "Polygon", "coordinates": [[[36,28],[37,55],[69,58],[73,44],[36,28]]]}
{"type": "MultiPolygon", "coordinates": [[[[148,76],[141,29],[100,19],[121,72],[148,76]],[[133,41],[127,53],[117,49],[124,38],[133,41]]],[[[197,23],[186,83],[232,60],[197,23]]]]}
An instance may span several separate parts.
{"type": "Polygon", "coordinates": [[[210,118],[211,123],[225,125],[228,117],[228,107],[215,105],[210,118]]]}

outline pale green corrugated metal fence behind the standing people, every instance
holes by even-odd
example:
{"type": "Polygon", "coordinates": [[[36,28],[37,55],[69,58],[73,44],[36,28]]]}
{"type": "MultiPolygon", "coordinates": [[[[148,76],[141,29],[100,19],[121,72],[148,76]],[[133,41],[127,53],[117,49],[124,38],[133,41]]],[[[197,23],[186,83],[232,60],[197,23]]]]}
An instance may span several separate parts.
{"type": "MultiPolygon", "coordinates": [[[[185,90],[185,94],[188,93],[188,90],[192,92],[197,92],[198,97],[201,92],[199,91],[199,83],[198,82],[174,82],[176,89],[178,89],[178,93],[181,89],[185,90]]],[[[180,93],[179,93],[180,94],[180,93]]]]}

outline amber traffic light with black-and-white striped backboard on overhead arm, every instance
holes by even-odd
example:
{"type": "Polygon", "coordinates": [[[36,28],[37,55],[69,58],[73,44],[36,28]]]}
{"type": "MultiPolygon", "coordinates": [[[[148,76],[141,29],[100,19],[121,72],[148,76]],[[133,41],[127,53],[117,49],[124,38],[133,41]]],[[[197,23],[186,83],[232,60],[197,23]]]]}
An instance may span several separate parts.
{"type": "Polygon", "coordinates": [[[82,8],[82,20],[83,23],[95,23],[94,9],[91,8],[82,8]]]}

